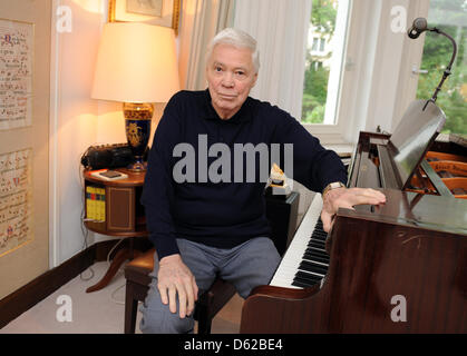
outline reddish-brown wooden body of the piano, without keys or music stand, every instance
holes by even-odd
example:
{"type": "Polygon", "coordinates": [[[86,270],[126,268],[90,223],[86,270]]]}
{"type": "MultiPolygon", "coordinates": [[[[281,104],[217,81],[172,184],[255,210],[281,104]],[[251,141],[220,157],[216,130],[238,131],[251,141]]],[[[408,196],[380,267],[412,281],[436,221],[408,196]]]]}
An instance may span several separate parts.
{"type": "MultiPolygon", "coordinates": [[[[378,147],[388,139],[361,132],[349,176],[349,186],[382,189],[387,204],[340,209],[325,245],[324,281],[255,288],[243,306],[241,333],[467,333],[465,190],[434,191],[434,185],[446,187],[440,178],[421,182],[428,177],[416,172],[418,158],[409,184],[397,187],[406,181],[378,147]]],[[[421,158],[435,148],[467,160],[465,147],[429,140],[421,158]]]]}

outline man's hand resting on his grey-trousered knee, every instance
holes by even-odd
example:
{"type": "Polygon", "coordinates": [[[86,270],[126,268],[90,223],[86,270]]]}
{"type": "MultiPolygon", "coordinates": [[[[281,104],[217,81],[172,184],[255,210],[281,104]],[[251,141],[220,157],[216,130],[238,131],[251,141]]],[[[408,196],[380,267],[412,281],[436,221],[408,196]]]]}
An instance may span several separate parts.
{"type": "Polygon", "coordinates": [[[183,263],[181,255],[169,255],[159,260],[157,288],[162,303],[172,313],[177,313],[176,297],[179,301],[179,317],[184,318],[193,313],[197,300],[198,288],[195,277],[183,263]]]}

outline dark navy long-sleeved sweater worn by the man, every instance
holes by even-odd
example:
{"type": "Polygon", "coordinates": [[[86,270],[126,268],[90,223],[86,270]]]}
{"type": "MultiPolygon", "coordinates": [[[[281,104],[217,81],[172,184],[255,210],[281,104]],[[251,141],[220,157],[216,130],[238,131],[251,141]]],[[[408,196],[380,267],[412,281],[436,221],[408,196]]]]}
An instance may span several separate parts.
{"type": "MultiPolygon", "coordinates": [[[[311,190],[321,192],[332,181],[347,181],[347,172],[335,152],[325,150],[280,108],[249,97],[231,119],[222,120],[211,105],[208,90],[179,91],[167,103],[154,136],[142,196],[149,239],[159,259],[178,254],[176,238],[231,248],[253,237],[270,236],[260,155],[255,157],[255,181],[246,180],[247,159],[243,165],[244,179],[239,181],[239,176],[234,178],[239,168],[239,162],[234,162],[234,144],[254,147],[292,144],[293,177],[289,178],[311,190]],[[226,166],[220,167],[215,161],[225,155],[225,162],[228,152],[217,150],[217,156],[206,158],[206,147],[200,145],[203,139],[207,150],[221,142],[230,148],[232,165],[226,171],[230,170],[232,179],[212,181],[210,174],[206,179],[206,167],[223,172],[226,166]],[[181,150],[186,147],[193,147],[195,155],[181,150]],[[181,171],[191,179],[181,181],[181,171]]],[[[283,159],[282,149],[282,164],[278,162],[281,167],[283,159]]]]}

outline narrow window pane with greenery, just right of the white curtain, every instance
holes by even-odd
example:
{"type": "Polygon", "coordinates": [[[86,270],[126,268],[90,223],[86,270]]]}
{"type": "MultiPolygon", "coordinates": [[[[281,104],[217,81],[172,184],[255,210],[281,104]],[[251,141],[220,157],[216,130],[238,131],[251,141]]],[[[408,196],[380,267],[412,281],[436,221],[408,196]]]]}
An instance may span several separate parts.
{"type": "Polygon", "coordinates": [[[312,2],[304,69],[303,123],[337,123],[348,12],[349,0],[312,2]]]}

